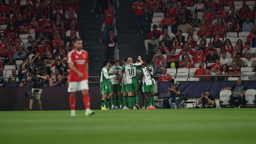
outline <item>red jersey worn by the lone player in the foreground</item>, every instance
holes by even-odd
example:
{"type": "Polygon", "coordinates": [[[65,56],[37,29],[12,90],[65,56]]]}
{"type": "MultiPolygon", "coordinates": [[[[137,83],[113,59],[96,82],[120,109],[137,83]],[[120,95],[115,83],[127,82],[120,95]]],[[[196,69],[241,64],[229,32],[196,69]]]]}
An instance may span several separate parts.
{"type": "Polygon", "coordinates": [[[74,67],[82,72],[83,78],[80,78],[76,72],[73,72],[71,69],[69,71],[70,81],[83,81],[88,80],[88,74],[86,72],[86,63],[89,62],[88,53],[84,50],[77,52],[72,50],[68,53],[68,63],[73,63],[74,67]]]}

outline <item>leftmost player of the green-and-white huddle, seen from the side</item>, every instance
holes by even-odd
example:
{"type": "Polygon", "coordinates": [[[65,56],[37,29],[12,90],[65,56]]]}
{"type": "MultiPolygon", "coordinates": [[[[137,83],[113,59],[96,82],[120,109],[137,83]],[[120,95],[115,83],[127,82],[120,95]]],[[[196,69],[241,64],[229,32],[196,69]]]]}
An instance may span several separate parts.
{"type": "Polygon", "coordinates": [[[108,105],[108,102],[110,101],[110,79],[117,77],[115,75],[115,72],[113,72],[114,75],[109,75],[108,68],[110,66],[110,63],[108,60],[104,60],[102,62],[103,68],[101,69],[101,84],[100,84],[100,89],[101,89],[101,110],[108,110],[106,106],[108,105]]]}

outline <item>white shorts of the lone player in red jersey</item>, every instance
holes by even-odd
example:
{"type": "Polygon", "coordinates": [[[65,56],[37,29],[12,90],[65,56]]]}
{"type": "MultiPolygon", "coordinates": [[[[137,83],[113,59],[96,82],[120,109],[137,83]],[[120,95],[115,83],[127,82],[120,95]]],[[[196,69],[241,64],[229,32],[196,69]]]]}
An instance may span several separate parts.
{"type": "Polygon", "coordinates": [[[68,92],[75,92],[80,90],[89,90],[88,80],[69,82],[68,92]]]}

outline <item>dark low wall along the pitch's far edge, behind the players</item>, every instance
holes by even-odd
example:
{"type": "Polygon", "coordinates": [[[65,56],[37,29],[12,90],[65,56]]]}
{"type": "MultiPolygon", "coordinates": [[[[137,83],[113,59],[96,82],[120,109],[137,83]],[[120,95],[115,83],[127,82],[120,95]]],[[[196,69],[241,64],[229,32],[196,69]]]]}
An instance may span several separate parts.
{"type": "MultiPolygon", "coordinates": [[[[226,82],[180,82],[183,94],[191,94],[192,98],[199,98],[203,90],[210,90],[216,98],[219,97],[219,90],[223,87],[231,87],[236,81],[226,82]]],[[[159,95],[166,97],[169,82],[158,82],[159,95]]],[[[256,81],[244,81],[248,89],[256,89],[256,81]]],[[[91,98],[91,109],[100,109],[101,95],[100,84],[90,84],[89,93],[91,98]]],[[[0,88],[0,111],[24,110],[28,108],[29,98],[25,97],[24,92],[29,90],[27,87],[1,87],[0,88]]],[[[69,110],[69,93],[67,87],[44,87],[41,95],[44,110],[69,110]]],[[[142,98],[140,97],[140,102],[142,98]]],[[[142,106],[140,104],[140,106],[142,106]]],[[[78,92],[76,96],[76,109],[84,109],[82,94],[78,92]]],[[[33,110],[38,110],[37,101],[34,101],[33,110]]]]}

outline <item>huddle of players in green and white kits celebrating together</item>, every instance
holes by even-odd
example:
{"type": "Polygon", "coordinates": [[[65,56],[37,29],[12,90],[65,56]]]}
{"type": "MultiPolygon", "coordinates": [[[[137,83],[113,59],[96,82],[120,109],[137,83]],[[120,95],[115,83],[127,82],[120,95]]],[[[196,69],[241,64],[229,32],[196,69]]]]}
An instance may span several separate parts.
{"type": "Polygon", "coordinates": [[[150,61],[143,62],[138,56],[136,63],[133,63],[130,57],[123,58],[122,63],[120,66],[119,59],[102,62],[104,67],[101,70],[101,110],[140,109],[139,92],[143,96],[141,109],[155,109],[154,69],[150,61]]]}

